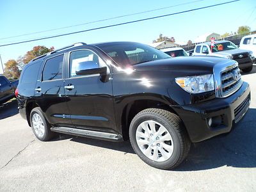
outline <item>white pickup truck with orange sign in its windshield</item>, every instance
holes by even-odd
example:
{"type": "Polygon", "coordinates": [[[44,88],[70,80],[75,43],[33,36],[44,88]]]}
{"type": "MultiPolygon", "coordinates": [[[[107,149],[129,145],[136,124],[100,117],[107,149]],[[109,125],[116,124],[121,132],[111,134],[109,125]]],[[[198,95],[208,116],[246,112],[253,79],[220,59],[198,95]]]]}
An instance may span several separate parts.
{"type": "Polygon", "coordinates": [[[244,72],[250,72],[253,67],[252,52],[238,49],[235,44],[227,40],[216,41],[214,47],[211,47],[211,42],[197,44],[193,55],[218,56],[221,58],[236,60],[239,68],[244,72]]]}

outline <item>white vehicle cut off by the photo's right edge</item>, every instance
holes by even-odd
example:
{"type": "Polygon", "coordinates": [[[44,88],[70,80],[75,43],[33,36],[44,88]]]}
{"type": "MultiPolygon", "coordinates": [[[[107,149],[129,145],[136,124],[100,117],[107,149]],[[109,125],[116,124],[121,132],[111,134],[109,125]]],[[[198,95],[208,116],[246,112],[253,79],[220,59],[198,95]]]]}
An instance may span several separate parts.
{"type": "Polygon", "coordinates": [[[256,63],[256,34],[244,36],[241,39],[239,48],[252,51],[253,61],[256,63]]]}

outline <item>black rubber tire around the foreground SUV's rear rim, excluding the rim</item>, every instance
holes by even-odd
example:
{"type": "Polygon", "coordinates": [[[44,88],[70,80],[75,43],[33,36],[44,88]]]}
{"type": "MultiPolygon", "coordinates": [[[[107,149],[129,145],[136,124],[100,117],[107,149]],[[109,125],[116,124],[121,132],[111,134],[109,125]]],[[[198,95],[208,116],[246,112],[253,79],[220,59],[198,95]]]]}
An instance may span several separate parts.
{"type": "Polygon", "coordinates": [[[51,125],[49,122],[47,122],[44,112],[42,111],[41,108],[34,108],[32,109],[30,113],[30,123],[31,123],[31,128],[32,131],[34,132],[36,138],[40,141],[49,141],[51,138],[54,136],[54,132],[51,131],[51,125]],[[39,134],[36,134],[35,127],[32,122],[33,115],[38,114],[42,118],[43,126],[44,126],[44,134],[40,136],[39,134]]]}

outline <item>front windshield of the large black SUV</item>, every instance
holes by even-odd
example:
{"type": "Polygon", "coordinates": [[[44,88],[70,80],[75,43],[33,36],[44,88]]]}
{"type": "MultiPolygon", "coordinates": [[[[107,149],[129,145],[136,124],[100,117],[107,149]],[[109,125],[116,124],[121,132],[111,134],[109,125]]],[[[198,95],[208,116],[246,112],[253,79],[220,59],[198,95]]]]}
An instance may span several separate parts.
{"type": "Polygon", "coordinates": [[[162,51],[139,43],[116,42],[97,45],[97,47],[106,52],[116,63],[124,66],[171,58],[162,51]]]}

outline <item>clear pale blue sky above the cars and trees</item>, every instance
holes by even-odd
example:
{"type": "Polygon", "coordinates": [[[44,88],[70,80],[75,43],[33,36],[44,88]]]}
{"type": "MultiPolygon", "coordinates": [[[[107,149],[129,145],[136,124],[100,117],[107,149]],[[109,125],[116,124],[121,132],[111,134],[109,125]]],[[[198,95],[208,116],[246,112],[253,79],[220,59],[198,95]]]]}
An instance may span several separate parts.
{"type": "MultiPolygon", "coordinates": [[[[81,31],[84,29],[98,28],[101,26],[108,26],[120,22],[128,22],[169,13],[182,12],[227,1],[229,0],[0,1],[0,45],[44,36],[81,31]],[[158,8],[164,9],[128,17],[120,17],[118,19],[111,19],[103,22],[95,22],[93,24],[84,24],[72,28],[49,31],[47,33],[8,38],[10,36],[73,26],[85,22],[108,19],[137,12],[145,12],[158,8]]],[[[6,61],[10,59],[16,60],[19,56],[23,56],[36,45],[45,45],[46,47],[54,46],[58,49],[75,42],[91,44],[109,41],[132,41],[150,44],[152,43],[152,40],[159,36],[159,33],[163,33],[164,36],[173,36],[177,44],[186,44],[188,40],[192,40],[193,42],[197,36],[205,33],[230,33],[237,31],[237,28],[243,25],[250,26],[252,30],[256,30],[255,0],[241,0],[231,4],[163,17],[160,19],[99,29],[97,31],[89,31],[48,40],[29,42],[26,44],[0,47],[0,54],[3,63],[6,63],[6,61]]]]}

